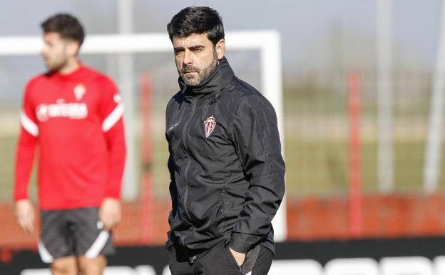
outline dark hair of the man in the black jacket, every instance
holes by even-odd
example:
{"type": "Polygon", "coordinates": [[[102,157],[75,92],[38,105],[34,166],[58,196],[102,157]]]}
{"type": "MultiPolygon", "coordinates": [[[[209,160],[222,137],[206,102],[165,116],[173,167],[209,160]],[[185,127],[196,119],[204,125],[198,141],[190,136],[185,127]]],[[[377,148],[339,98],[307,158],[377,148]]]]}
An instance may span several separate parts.
{"type": "Polygon", "coordinates": [[[188,6],[175,14],[167,24],[168,36],[186,37],[190,34],[204,34],[216,45],[224,39],[224,26],[220,14],[208,6],[188,6]]]}

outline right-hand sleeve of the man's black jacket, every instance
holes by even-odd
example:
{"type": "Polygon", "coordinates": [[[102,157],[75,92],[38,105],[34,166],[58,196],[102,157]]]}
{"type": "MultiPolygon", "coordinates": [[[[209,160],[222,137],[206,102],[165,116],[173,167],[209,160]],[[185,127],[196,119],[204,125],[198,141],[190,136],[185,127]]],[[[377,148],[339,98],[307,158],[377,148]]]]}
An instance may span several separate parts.
{"type": "Polygon", "coordinates": [[[255,94],[242,98],[232,138],[250,185],[229,245],[246,253],[272,230],[271,221],[285,193],[285,162],[272,104],[255,94]]]}

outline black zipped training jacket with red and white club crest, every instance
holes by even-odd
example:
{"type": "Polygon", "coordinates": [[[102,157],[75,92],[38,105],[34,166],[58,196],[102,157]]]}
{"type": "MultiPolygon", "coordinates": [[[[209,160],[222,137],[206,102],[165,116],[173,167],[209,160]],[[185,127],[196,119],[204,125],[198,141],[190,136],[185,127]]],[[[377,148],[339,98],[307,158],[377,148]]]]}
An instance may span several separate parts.
{"type": "Polygon", "coordinates": [[[168,102],[168,246],[209,249],[220,241],[247,252],[274,251],[272,218],[285,193],[275,110],[237,79],[227,59],[199,87],[168,102]]]}

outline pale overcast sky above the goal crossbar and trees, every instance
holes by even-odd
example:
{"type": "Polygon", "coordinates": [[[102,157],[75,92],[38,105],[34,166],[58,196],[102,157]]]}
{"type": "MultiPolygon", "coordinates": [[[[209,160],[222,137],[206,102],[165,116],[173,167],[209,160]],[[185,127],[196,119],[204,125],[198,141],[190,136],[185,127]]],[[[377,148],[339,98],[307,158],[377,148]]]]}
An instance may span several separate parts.
{"type": "MultiPolygon", "coordinates": [[[[414,55],[421,66],[434,66],[441,1],[392,2],[394,44],[414,55]]],[[[135,32],[165,31],[165,24],[171,16],[189,5],[217,9],[223,16],[225,29],[229,31],[277,29],[282,34],[285,69],[322,66],[324,60],[316,58],[319,53],[312,54],[313,60],[308,60],[307,54],[313,49],[329,49],[329,45],[320,47],[319,44],[329,44],[330,40],[325,38],[334,29],[337,34],[359,35],[366,44],[369,44],[368,37],[372,39],[376,31],[374,0],[134,0],[133,5],[135,32]]],[[[40,34],[42,19],[58,11],[69,11],[79,16],[89,34],[117,30],[116,1],[113,0],[15,0],[2,1],[0,35],[40,34]]],[[[354,41],[342,41],[342,44],[354,44],[354,41]]],[[[374,47],[374,44],[369,47],[374,47]]],[[[322,55],[320,59],[323,58],[322,55]]]]}

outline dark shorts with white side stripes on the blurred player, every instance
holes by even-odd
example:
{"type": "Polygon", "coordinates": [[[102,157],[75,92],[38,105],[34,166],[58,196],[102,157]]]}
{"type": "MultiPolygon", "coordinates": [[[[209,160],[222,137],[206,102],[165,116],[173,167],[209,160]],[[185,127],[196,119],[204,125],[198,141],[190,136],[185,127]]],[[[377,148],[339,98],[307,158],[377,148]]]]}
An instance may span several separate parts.
{"type": "Polygon", "coordinates": [[[42,210],[39,254],[45,263],[63,256],[113,254],[111,232],[102,230],[98,208],[42,210]]]}

